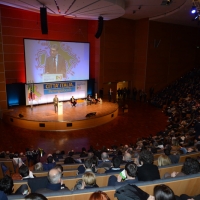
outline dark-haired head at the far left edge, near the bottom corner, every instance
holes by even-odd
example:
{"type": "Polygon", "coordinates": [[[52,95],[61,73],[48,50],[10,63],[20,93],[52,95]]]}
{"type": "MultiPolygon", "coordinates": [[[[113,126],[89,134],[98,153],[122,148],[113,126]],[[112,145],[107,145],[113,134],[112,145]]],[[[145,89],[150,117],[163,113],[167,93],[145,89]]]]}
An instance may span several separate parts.
{"type": "Polygon", "coordinates": [[[4,191],[5,194],[12,194],[13,191],[13,180],[10,176],[6,175],[0,180],[0,190],[4,191]]]}

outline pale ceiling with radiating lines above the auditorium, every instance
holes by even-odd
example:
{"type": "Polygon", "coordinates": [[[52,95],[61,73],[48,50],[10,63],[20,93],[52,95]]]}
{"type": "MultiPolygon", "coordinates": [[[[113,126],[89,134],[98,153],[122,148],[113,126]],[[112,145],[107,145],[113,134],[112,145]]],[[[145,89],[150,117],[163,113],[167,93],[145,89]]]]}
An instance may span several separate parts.
{"type": "MultiPolygon", "coordinates": [[[[199,1],[199,0],[195,0],[199,1]]],[[[149,20],[199,26],[190,14],[192,0],[0,0],[0,4],[33,12],[40,7],[47,7],[49,15],[63,15],[67,18],[104,20],[119,17],[138,20],[149,20]],[[167,1],[171,1],[169,5],[167,1]]]]}

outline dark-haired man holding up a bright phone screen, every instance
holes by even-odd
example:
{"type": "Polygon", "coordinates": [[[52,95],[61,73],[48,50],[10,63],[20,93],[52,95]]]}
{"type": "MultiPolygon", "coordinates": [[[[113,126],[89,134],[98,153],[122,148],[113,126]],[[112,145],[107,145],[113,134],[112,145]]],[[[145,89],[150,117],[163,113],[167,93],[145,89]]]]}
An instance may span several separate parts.
{"type": "Polygon", "coordinates": [[[136,173],[137,165],[135,163],[127,163],[125,165],[125,170],[122,171],[118,177],[115,175],[109,177],[108,186],[134,184],[138,182],[136,173]]]}

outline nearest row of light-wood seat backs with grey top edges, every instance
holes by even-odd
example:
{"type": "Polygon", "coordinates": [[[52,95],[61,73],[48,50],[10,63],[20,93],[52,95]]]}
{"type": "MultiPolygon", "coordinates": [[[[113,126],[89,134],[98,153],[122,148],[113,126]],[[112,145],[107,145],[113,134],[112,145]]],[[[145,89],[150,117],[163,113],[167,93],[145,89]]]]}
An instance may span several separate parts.
{"type": "MultiPolygon", "coordinates": [[[[66,183],[66,182],[65,182],[66,183]]],[[[166,184],[173,189],[176,195],[181,195],[183,193],[188,194],[189,196],[198,195],[200,193],[200,173],[187,175],[183,177],[175,177],[170,179],[159,179],[155,181],[148,182],[138,182],[136,185],[140,187],[145,192],[153,195],[153,188],[158,184],[166,184]]],[[[43,193],[48,199],[51,200],[80,200],[80,199],[89,199],[89,196],[97,190],[104,191],[108,194],[111,200],[117,200],[114,197],[115,190],[120,186],[109,186],[101,188],[92,188],[85,190],[76,190],[76,191],[56,191],[43,193]]],[[[22,195],[10,195],[8,196],[9,200],[22,200],[24,197],[22,195]]]]}

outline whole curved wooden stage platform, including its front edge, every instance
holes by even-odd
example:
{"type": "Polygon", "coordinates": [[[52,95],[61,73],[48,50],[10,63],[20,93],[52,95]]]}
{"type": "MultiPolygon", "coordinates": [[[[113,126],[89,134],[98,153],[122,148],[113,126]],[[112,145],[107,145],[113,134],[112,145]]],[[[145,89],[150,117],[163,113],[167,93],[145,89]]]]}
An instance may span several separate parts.
{"type": "Polygon", "coordinates": [[[102,104],[78,104],[71,107],[63,102],[63,114],[54,111],[53,104],[33,106],[16,106],[3,113],[3,120],[14,126],[30,130],[70,131],[96,127],[108,123],[118,116],[118,104],[103,102],[102,104]],[[86,117],[88,113],[96,115],[86,117]],[[23,117],[19,117],[21,114],[23,117]]]}

